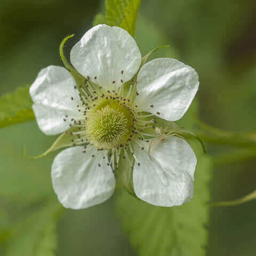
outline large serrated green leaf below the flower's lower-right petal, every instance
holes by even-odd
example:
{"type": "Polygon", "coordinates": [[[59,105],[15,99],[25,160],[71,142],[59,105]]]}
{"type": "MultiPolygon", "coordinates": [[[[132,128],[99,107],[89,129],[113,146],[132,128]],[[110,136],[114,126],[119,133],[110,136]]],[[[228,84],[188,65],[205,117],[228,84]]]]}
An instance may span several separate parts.
{"type": "Polygon", "coordinates": [[[116,206],[124,229],[140,256],[205,255],[209,221],[209,173],[211,161],[203,156],[195,173],[195,195],[175,207],[157,207],[119,192],[116,206]]]}

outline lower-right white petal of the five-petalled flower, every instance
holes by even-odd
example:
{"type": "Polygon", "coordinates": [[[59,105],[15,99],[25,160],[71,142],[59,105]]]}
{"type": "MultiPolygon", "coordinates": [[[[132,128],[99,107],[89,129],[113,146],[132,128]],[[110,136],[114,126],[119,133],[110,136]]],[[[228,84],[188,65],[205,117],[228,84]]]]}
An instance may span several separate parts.
{"type": "Polygon", "coordinates": [[[189,144],[178,137],[153,141],[148,154],[148,143],[134,143],[134,155],[140,166],[134,165],[135,194],[153,205],[182,205],[193,197],[196,156],[189,144]]]}

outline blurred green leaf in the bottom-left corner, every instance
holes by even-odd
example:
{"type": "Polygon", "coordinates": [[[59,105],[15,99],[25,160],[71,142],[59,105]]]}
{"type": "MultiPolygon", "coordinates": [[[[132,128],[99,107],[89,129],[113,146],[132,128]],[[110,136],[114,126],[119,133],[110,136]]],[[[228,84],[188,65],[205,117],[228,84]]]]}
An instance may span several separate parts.
{"type": "Polygon", "coordinates": [[[53,256],[57,245],[55,226],[58,203],[47,203],[4,230],[5,256],[53,256]]]}

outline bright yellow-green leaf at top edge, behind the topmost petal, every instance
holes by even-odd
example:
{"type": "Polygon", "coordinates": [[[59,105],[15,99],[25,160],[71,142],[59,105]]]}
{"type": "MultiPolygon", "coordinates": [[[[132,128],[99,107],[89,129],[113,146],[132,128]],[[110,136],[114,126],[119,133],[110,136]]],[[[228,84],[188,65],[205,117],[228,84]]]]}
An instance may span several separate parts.
{"type": "Polygon", "coordinates": [[[106,0],[106,15],[97,14],[93,25],[105,23],[126,29],[134,36],[140,0],[106,0]]]}

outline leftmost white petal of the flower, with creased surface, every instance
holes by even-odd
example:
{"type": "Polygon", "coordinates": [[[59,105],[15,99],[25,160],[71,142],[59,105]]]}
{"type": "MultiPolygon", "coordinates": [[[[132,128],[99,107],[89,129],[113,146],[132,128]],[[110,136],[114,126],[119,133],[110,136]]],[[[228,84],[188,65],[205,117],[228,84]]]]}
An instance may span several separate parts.
{"type": "Polygon", "coordinates": [[[75,85],[73,77],[65,68],[49,66],[39,72],[30,86],[36,121],[45,134],[55,135],[69,129],[69,122],[63,121],[65,115],[79,116],[77,102],[80,99],[75,85]]]}

